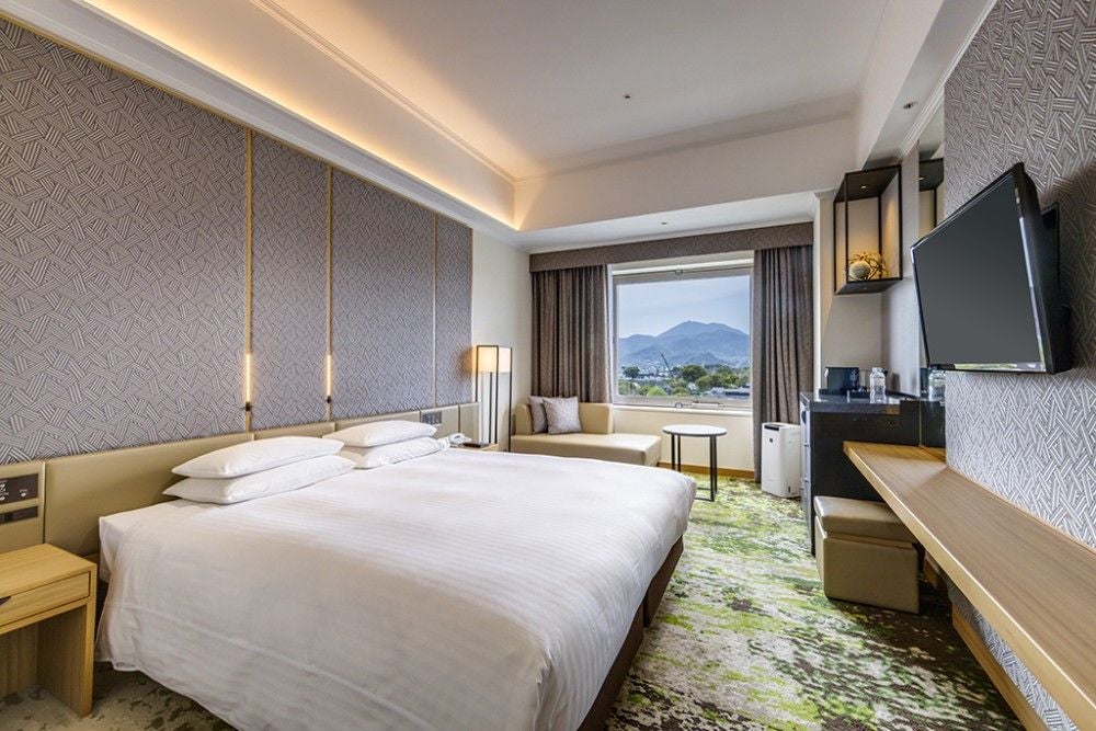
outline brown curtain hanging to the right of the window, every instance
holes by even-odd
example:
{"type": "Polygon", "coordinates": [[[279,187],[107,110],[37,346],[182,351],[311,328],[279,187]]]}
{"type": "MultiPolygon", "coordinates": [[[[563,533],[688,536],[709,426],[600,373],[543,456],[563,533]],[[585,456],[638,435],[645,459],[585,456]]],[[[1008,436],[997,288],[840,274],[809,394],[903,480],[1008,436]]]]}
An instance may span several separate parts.
{"type": "Polygon", "coordinates": [[[814,379],[813,256],[810,247],[754,252],[752,390],[754,476],[761,480],[761,425],[799,423],[799,392],[814,379]]]}

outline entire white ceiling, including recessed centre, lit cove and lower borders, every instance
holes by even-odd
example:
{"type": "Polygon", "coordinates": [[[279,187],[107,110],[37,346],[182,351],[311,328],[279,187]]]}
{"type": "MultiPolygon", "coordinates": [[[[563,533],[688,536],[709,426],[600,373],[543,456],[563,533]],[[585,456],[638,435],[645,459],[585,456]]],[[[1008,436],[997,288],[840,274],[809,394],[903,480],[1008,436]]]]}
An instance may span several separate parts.
{"type": "Polygon", "coordinates": [[[916,142],[992,2],[0,0],[0,13],[546,250],[809,220],[843,172],[916,142]]]}

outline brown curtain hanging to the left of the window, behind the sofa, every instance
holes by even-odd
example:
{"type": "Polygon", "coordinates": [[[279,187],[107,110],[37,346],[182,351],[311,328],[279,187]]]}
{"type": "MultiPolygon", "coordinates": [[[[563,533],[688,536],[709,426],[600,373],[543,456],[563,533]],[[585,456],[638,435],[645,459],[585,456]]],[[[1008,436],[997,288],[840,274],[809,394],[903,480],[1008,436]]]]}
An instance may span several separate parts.
{"type": "Polygon", "coordinates": [[[608,267],[533,272],[533,392],[609,400],[608,267]]]}

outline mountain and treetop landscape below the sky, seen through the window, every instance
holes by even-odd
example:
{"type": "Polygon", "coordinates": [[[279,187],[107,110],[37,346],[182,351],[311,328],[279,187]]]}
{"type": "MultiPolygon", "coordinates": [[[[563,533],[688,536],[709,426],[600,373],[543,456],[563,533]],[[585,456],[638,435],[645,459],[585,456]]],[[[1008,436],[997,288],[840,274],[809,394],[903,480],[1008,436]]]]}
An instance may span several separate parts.
{"type": "Polygon", "coordinates": [[[621,396],[750,398],[750,335],[721,322],[686,320],[658,335],[617,340],[621,396]]]}

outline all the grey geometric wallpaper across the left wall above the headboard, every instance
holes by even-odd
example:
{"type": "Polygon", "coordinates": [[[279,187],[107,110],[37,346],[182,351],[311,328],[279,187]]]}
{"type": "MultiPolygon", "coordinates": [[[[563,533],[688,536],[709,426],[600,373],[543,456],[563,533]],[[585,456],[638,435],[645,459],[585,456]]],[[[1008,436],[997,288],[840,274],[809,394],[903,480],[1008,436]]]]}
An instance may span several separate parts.
{"type": "MultiPolygon", "coordinates": [[[[0,21],[0,464],[246,427],[247,135],[0,21]]],[[[329,167],[252,137],[261,429],[326,416],[329,167]]],[[[467,229],[334,178],[334,414],[466,401],[467,229]]]]}

